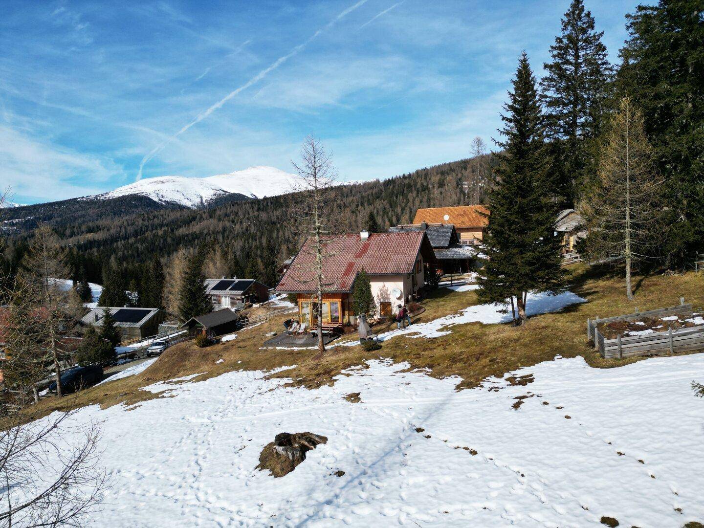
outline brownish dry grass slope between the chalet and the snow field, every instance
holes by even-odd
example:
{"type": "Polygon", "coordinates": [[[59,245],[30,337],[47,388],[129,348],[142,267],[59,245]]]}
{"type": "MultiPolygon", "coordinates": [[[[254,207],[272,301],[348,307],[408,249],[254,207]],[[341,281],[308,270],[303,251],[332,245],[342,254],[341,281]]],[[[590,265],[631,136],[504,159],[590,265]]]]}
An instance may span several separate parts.
{"type": "MultiPolygon", "coordinates": [[[[132,406],[168,394],[152,394],[141,387],[161,380],[199,374],[195,380],[222,375],[232,370],[271,370],[297,365],[273,374],[291,378],[290,384],[315,388],[334,383],[342,370],[362,365],[372,358],[407,361],[412,368],[425,368],[429,375],[463,379],[458,389],[477,386],[489,376],[502,377],[520,367],[564,357],[584,356],[593,367],[620,367],[643,358],[603,360],[586,344],[586,318],[608,317],[633,311],[634,306],[649,310],[679,302],[684,296],[696,309],[704,306],[704,277],[688,272],[685,275],[652,275],[636,279],[636,301],[629,303],[620,275],[612,275],[578,265],[572,269],[570,289],[589,301],[565,308],[559,313],[536,315],[524,327],[484,325],[479,322],[452,327],[451,334],[434,339],[413,339],[400,336],[384,341],[376,352],[365,352],[360,346],[337,346],[322,360],[313,360],[315,351],[261,348],[265,334],[280,332],[282,315],[262,325],[244,329],[237,339],[208,348],[197,348],[192,342],[174,346],[142,374],[108,382],[80,392],[75,398],[47,398],[32,406],[31,417],[53,410],[99,404],[109,407],[118,403],[132,406]],[[218,360],[222,359],[222,362],[218,360]]],[[[426,310],[415,322],[433,320],[455,313],[477,303],[473,291],[458,293],[439,290],[427,298],[426,310]]]]}

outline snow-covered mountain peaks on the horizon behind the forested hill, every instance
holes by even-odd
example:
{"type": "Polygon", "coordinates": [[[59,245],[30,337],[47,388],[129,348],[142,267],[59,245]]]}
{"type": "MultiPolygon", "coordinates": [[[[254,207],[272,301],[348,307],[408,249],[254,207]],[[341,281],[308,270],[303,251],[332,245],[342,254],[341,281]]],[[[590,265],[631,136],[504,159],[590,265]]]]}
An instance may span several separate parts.
{"type": "Polygon", "coordinates": [[[251,198],[276,196],[294,190],[296,175],[274,167],[250,167],[205,178],[184,176],[160,176],[140,180],[106,194],[99,199],[138,194],[159,203],[178,203],[196,208],[219,196],[244,194],[251,198]]]}

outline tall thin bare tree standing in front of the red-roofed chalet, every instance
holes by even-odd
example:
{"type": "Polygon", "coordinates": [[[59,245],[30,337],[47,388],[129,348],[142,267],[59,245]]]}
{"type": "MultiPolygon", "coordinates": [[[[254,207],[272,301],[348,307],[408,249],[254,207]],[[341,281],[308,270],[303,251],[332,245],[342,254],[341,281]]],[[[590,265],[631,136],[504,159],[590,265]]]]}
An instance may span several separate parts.
{"type": "MultiPolygon", "coordinates": [[[[313,263],[301,264],[294,261],[291,267],[291,277],[301,284],[312,284],[318,299],[318,356],[325,353],[325,343],[322,339],[322,298],[329,283],[323,272],[323,260],[328,255],[327,245],[334,237],[332,225],[334,219],[329,214],[329,189],[334,187],[337,170],[332,165],[331,154],[325,151],[325,146],[315,137],[308,136],[301,146],[301,161],[293,163],[298,172],[298,184],[295,194],[291,195],[291,227],[307,237],[308,243],[301,252],[313,257],[313,263]],[[296,276],[298,275],[298,278],[296,276]]],[[[298,260],[298,259],[296,259],[298,260]]],[[[308,260],[308,259],[303,259],[308,260]]]]}

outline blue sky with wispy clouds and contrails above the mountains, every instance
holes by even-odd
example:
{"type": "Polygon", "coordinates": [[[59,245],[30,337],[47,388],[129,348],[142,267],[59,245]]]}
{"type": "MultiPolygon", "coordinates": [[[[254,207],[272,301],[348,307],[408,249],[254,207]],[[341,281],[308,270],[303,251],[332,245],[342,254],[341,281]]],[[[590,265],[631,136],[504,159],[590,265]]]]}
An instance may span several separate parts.
{"type": "MultiPolygon", "coordinates": [[[[139,177],[291,171],[314,133],[341,180],[494,146],[561,1],[3,1],[0,184],[38,203],[139,177]],[[142,170],[140,171],[140,166],[142,170]]],[[[587,0],[612,61],[635,1],[587,0]]]]}

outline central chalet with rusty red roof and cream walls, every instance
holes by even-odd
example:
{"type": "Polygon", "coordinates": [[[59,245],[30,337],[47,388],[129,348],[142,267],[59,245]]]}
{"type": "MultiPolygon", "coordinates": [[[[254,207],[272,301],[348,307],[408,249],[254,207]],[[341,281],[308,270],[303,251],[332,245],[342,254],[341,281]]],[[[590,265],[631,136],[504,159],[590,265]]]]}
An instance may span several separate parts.
{"type": "MultiPolygon", "coordinates": [[[[417,298],[426,265],[436,262],[425,231],[343,234],[325,241],[323,254],[322,322],[332,323],[351,322],[351,293],[360,271],[369,275],[377,313],[384,316],[417,298]]],[[[279,294],[296,294],[299,320],[309,325],[318,324],[314,263],[308,239],[276,287],[279,294]]]]}

